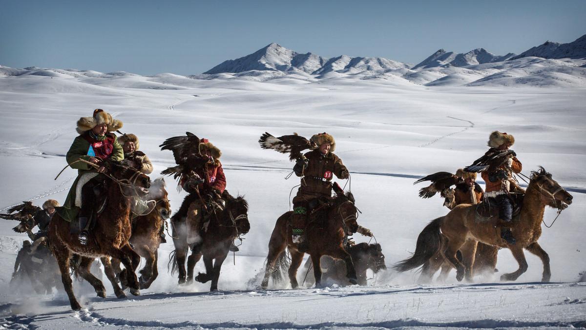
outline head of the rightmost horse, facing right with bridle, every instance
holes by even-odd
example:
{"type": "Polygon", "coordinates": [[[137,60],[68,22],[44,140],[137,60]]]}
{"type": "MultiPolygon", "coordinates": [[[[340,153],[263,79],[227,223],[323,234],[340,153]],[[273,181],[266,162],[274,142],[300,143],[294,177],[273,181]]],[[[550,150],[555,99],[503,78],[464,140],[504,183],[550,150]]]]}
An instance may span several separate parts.
{"type": "MultiPolygon", "coordinates": [[[[555,209],[564,210],[572,203],[572,195],[561,188],[560,184],[551,178],[543,167],[539,166],[539,172],[531,172],[531,188],[535,186],[537,192],[540,193],[541,201],[547,206],[555,209]]],[[[527,187],[529,190],[530,187],[527,187]]]]}

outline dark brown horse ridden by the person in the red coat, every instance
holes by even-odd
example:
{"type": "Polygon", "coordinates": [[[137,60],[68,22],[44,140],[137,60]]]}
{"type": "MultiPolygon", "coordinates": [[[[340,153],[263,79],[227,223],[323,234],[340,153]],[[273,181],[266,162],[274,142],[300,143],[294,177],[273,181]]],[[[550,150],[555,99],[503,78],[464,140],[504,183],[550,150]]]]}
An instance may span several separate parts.
{"type": "MultiPolygon", "coordinates": [[[[181,209],[173,215],[173,244],[175,244],[175,251],[171,253],[169,263],[173,265],[172,274],[175,271],[179,271],[179,284],[192,283],[193,268],[203,256],[206,273],[199,273],[195,280],[201,283],[211,280],[210,291],[217,290],[220,268],[222,268],[222,263],[228,256],[230,245],[234,239],[248,233],[248,230],[250,230],[248,203],[243,196],[233,198],[224,190],[222,198],[226,202],[226,206],[224,206],[223,210],[216,209],[210,215],[207,230],[202,234],[202,249],[199,253],[192,252],[188,257],[187,272],[185,271],[185,257],[187,256],[188,248],[192,247],[193,244],[188,244],[187,242],[186,217],[182,209],[189,202],[188,198],[184,200],[181,209]]],[[[206,220],[204,219],[203,221],[206,220]]]]}

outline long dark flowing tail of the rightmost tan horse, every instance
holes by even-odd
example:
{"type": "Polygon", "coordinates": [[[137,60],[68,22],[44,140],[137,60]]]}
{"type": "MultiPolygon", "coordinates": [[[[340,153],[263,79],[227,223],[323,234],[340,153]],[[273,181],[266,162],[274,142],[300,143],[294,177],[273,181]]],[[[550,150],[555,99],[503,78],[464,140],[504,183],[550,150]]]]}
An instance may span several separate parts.
{"type": "Polygon", "coordinates": [[[399,261],[394,264],[393,268],[397,271],[403,272],[421,267],[425,261],[440,251],[443,245],[442,234],[440,231],[442,223],[444,223],[443,216],[428,223],[417,237],[417,244],[415,245],[413,256],[399,261]]]}

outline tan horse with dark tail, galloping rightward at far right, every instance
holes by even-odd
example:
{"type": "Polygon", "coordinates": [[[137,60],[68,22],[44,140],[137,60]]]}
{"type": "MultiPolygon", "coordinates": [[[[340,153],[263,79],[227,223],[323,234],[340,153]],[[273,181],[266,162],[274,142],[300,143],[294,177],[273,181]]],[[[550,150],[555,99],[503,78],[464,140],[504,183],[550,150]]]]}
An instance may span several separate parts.
{"type": "MultiPolygon", "coordinates": [[[[541,249],[537,240],[541,236],[541,222],[545,207],[550,206],[563,210],[572,203],[572,195],[551,179],[551,174],[543,167],[539,172],[532,172],[529,186],[523,199],[519,221],[514,221],[512,233],[517,243],[512,245],[500,238],[500,229],[493,227],[490,222],[475,222],[475,205],[458,205],[448,215],[438,217],[426,227],[421,234],[424,239],[417,240],[417,246],[413,257],[400,261],[394,268],[399,271],[413,269],[425,263],[438,251],[443,250],[445,257],[456,268],[456,280],[472,281],[473,264],[475,261],[476,241],[492,246],[507,248],[519,263],[519,269],[513,273],[503,274],[500,280],[514,281],[527,270],[527,261],[523,253],[526,249],[538,256],[543,262],[543,275],[541,281],[547,282],[551,277],[549,256],[541,249]],[[445,235],[447,241],[442,239],[445,235]],[[456,258],[456,252],[471,240],[472,248],[462,251],[462,262],[456,258]]],[[[421,238],[421,236],[420,236],[421,238]]]]}

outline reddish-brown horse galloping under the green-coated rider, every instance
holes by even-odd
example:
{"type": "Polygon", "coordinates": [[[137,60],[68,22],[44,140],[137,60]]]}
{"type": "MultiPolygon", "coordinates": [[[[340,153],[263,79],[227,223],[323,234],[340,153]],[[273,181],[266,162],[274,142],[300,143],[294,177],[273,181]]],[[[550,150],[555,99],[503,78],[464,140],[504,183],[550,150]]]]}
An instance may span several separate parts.
{"type": "Polygon", "coordinates": [[[59,264],[61,280],[74,310],[81,309],[81,305],[73,294],[69,275],[72,254],[81,256],[77,271],[94,287],[98,297],[105,298],[105,288],[104,284],[90,273],[91,263],[96,257],[112,256],[121,260],[124,267],[131,270],[128,277],[129,286],[136,290],[139,287],[129,257],[133,253],[128,244],[131,234],[130,199],[137,195],[147,195],[151,180],[141,172],[121,165],[120,162],[106,161],[104,166],[111,178],[105,181],[104,187],[107,204],[90,231],[87,244],[80,244],[77,234],[70,233],[70,223],[59,214],[54,215],[49,224],[49,246],[59,264]]]}

